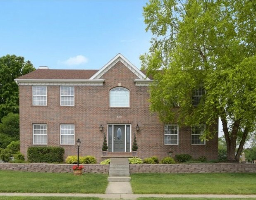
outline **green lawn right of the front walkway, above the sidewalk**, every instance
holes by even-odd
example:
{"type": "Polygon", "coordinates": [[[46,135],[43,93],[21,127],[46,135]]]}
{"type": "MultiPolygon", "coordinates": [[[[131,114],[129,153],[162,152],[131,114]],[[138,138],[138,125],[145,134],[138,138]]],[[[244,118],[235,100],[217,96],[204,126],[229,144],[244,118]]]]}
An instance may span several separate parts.
{"type": "Polygon", "coordinates": [[[141,173],[131,184],[135,194],[256,194],[256,173],[141,173]]]}

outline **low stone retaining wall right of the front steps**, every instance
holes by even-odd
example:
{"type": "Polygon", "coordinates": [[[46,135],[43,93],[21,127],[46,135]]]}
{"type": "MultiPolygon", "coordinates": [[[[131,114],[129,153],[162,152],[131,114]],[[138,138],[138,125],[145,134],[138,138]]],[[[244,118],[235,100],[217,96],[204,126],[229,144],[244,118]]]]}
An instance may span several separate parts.
{"type": "Polygon", "coordinates": [[[215,173],[215,172],[256,172],[256,164],[130,164],[134,173],[215,173]]]}

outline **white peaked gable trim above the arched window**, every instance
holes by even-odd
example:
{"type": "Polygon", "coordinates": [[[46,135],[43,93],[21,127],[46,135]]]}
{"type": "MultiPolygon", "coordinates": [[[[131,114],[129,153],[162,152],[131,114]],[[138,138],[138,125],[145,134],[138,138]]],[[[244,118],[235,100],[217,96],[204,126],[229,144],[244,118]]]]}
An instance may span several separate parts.
{"type": "Polygon", "coordinates": [[[143,74],[137,67],[134,66],[129,60],[127,60],[122,54],[117,54],[112,60],[105,64],[99,71],[97,71],[91,79],[99,79],[103,74],[105,74],[111,67],[113,67],[117,62],[122,62],[128,69],[130,69],[139,79],[150,80],[143,74]]]}

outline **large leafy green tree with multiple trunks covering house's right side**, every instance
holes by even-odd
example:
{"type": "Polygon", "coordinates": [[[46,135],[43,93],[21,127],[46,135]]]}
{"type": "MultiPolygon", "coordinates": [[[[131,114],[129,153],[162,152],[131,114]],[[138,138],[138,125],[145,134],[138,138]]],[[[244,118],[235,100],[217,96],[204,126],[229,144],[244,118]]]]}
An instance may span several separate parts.
{"type": "Polygon", "coordinates": [[[256,1],[149,0],[143,14],[153,34],[141,55],[155,80],[151,110],[162,121],[205,123],[202,139],[213,137],[209,127],[220,118],[227,159],[239,160],[256,126],[256,1]],[[200,87],[206,92],[193,106],[200,87]]]}

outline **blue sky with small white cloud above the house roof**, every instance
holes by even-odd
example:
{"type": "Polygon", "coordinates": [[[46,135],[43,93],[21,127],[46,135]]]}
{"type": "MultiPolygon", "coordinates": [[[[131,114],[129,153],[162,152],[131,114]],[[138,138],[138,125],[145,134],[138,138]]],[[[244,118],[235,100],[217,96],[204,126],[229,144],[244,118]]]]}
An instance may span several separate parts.
{"type": "Polygon", "coordinates": [[[136,67],[148,51],[146,1],[0,1],[0,57],[34,67],[100,69],[117,53],[136,67]]]}

